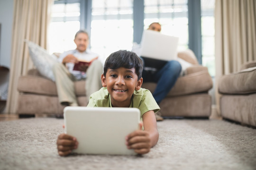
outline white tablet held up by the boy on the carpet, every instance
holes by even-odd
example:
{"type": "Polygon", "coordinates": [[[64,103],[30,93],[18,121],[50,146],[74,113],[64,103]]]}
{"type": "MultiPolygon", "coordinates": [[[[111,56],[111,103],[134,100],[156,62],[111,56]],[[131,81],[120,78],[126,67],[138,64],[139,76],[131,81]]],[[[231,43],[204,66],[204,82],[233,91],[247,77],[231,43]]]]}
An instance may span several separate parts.
{"type": "Polygon", "coordinates": [[[137,108],[65,107],[65,133],[77,138],[73,153],[135,155],[125,137],[139,129],[137,108]]]}

